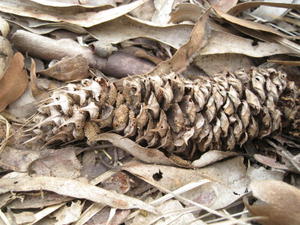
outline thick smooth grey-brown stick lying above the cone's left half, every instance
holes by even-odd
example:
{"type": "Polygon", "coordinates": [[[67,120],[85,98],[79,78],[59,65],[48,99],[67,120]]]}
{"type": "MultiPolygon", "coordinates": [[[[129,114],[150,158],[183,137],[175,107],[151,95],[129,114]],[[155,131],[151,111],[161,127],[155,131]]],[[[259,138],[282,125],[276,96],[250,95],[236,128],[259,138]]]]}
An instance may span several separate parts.
{"type": "Polygon", "coordinates": [[[23,30],[14,33],[12,43],[15,48],[24,54],[28,53],[33,57],[49,61],[81,54],[88,60],[90,67],[99,69],[114,77],[142,74],[154,68],[154,65],[147,60],[128,54],[117,52],[108,59],[101,58],[94,54],[92,49],[83,47],[71,39],[54,40],[23,30]]]}

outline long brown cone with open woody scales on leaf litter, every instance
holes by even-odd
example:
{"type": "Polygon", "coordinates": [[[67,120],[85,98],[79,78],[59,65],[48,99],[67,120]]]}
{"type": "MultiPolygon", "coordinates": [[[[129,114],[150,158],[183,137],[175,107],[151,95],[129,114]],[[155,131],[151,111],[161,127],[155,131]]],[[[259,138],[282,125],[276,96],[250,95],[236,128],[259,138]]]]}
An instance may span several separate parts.
{"type": "MultiPolygon", "coordinates": [[[[53,93],[31,130],[48,143],[85,138],[85,125],[192,158],[232,150],[290,127],[299,131],[298,89],[286,74],[252,68],[194,80],[181,75],[135,76],[115,85],[82,80],[53,93]]],[[[298,132],[299,134],[299,132],[298,132]]]]}

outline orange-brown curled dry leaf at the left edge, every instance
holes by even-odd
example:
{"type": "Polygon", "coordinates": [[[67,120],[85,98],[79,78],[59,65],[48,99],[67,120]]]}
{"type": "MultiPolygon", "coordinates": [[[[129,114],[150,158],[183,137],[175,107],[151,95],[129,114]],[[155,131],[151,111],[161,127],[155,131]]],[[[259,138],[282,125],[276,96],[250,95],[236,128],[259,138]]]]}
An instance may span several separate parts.
{"type": "Polygon", "coordinates": [[[0,112],[21,97],[27,85],[28,77],[26,70],[24,70],[24,57],[17,52],[0,80],[0,112]]]}

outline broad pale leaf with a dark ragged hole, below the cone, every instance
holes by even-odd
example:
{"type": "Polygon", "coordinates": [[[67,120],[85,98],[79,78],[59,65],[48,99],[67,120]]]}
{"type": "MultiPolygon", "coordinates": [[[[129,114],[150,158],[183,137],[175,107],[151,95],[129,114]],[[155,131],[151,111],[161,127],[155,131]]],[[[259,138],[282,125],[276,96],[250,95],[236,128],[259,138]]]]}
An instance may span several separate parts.
{"type": "Polygon", "coordinates": [[[165,189],[174,191],[191,182],[208,179],[211,182],[185,192],[182,196],[211,209],[226,207],[239,199],[247,191],[249,182],[242,157],[194,170],[140,162],[130,162],[122,168],[162,192],[165,189]]]}

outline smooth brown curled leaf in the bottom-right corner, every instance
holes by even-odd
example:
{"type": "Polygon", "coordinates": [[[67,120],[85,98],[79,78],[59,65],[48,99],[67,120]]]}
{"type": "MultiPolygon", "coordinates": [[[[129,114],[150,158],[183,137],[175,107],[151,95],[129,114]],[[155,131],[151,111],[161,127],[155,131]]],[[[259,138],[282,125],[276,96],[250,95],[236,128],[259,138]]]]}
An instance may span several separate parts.
{"type": "Polygon", "coordinates": [[[255,216],[265,216],[264,225],[300,224],[300,190],[282,181],[263,180],[250,184],[253,196],[261,200],[259,204],[247,208],[255,216]]]}

